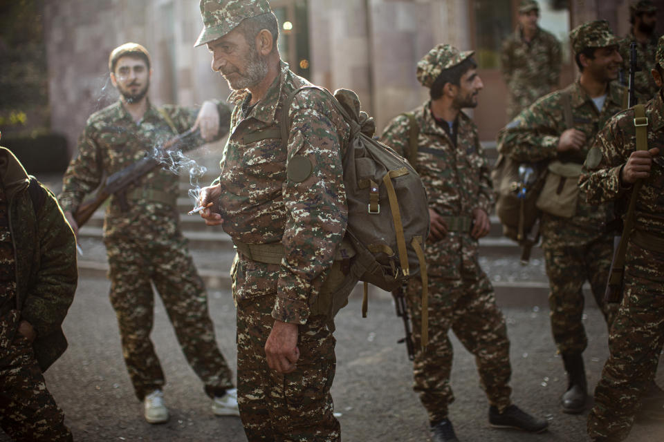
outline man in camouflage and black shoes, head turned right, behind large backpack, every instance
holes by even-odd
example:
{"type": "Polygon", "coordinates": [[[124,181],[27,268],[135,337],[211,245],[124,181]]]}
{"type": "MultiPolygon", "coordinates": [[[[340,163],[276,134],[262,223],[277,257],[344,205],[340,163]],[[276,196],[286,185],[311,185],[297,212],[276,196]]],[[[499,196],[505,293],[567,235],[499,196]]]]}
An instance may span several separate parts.
{"type": "Polygon", "coordinates": [[[496,305],[491,282],[479,267],[478,239],[486,236],[493,204],[489,165],[479,144],[477,126],[461,108],[477,106],[483,88],[472,51],[460,52],[439,44],[417,65],[417,78],[430,89],[431,100],[399,115],[381,140],[407,155],[429,196],[431,234],[427,239],[429,278],[429,344],[421,350],[422,283],[409,282],[407,305],[418,349],[414,390],[429,414],[433,441],[457,441],[448,419],[454,401],[450,387],[452,345],[450,328],[475,355],[481,387],[490,403],[489,422],[541,432],[546,421],[535,419],[510,401],[511,375],[505,319],[496,305]],[[417,150],[409,133],[418,126],[417,150]]]}

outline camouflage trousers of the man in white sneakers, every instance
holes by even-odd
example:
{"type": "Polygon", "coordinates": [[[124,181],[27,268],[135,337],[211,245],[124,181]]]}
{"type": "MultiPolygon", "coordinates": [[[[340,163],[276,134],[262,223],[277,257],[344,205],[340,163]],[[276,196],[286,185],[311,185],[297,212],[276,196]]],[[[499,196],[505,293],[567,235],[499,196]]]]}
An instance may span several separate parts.
{"type": "Polygon", "coordinates": [[[205,384],[205,393],[219,396],[232,388],[232,373],[214,337],[203,280],[181,234],[163,242],[116,238],[104,242],[109,258],[111,304],[118,317],[124,363],[136,396],[142,400],[165,384],[150,339],[154,322],[151,283],[163,301],[187,362],[205,384]]]}

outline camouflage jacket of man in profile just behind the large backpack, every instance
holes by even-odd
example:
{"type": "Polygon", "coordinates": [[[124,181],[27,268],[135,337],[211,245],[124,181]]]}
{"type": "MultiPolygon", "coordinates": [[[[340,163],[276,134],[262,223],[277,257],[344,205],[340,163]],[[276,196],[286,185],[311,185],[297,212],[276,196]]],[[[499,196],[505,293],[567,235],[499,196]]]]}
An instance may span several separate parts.
{"type": "MultiPolygon", "coordinates": [[[[443,216],[472,218],[474,209],[490,213],[493,191],[489,165],[479,144],[477,126],[459,113],[457,146],[444,128],[436,124],[430,102],[412,113],[420,128],[418,153],[413,166],[427,190],[430,209],[443,216]]],[[[401,155],[409,150],[409,119],[399,115],[385,128],[381,141],[401,155]]],[[[427,241],[427,271],[450,279],[473,277],[479,272],[479,243],[468,232],[450,231],[442,240],[427,241]]]]}

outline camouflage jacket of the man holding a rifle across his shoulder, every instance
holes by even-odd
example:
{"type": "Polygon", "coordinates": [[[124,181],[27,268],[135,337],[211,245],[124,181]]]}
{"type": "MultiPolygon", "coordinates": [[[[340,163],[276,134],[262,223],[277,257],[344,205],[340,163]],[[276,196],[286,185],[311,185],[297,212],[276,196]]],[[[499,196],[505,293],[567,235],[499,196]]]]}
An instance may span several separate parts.
{"type": "MultiPolygon", "coordinates": [[[[155,155],[156,148],[187,131],[196,120],[197,108],[166,105],[161,107],[169,116],[174,129],[149,104],[140,123],[118,101],[89,117],[78,142],[78,156],[72,160],[64,175],[59,202],[63,211],[75,212],[84,195],[95,190],[104,175],[121,171],[145,155],[155,155]]],[[[221,131],[228,131],[228,108],[219,104],[221,131]]],[[[203,139],[196,141],[201,146],[203,139]]],[[[174,233],[178,213],[178,175],[176,171],[154,169],[141,177],[127,190],[129,210],[122,211],[119,198],[113,195],[104,220],[104,237],[145,239],[174,233]]]]}

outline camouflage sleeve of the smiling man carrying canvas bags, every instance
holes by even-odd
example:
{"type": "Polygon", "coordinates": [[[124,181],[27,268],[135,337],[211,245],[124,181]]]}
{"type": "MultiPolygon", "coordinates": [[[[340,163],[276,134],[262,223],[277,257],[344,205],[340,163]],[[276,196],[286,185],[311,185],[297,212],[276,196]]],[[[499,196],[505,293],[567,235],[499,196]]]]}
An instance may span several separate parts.
{"type": "Polygon", "coordinates": [[[546,95],[525,108],[498,133],[498,152],[518,162],[555,158],[562,129],[562,106],[555,94],[546,95]]]}

